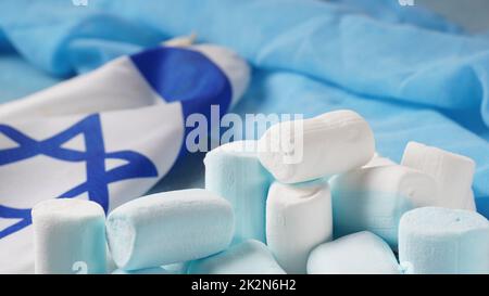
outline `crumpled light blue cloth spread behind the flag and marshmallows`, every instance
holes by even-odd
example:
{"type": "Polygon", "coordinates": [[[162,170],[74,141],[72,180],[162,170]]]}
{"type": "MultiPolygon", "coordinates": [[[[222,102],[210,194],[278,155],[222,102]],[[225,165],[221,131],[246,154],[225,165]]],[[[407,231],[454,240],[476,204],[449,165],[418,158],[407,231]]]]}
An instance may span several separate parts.
{"type": "Polygon", "coordinates": [[[348,107],[367,118],[378,151],[394,160],[411,140],[467,155],[477,162],[478,210],[489,217],[489,39],[396,2],[2,1],[0,89],[11,90],[0,102],[197,33],[255,68],[234,112],[348,107]]]}

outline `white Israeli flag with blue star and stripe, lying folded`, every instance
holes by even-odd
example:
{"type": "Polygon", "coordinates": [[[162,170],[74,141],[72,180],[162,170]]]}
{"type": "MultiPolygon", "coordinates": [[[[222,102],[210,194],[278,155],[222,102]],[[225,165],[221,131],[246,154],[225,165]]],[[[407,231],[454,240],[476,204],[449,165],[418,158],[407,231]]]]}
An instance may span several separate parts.
{"type": "Polygon", "coordinates": [[[228,110],[249,76],[227,49],[163,46],[1,105],[0,273],[34,271],[35,204],[86,198],[108,213],[145,194],[185,150],[186,118],[228,110]]]}

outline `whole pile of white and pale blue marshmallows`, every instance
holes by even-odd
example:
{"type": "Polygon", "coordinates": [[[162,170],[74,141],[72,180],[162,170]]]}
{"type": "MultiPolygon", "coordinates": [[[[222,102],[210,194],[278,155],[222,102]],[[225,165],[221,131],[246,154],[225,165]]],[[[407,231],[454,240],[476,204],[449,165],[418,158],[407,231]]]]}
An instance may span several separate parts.
{"type": "Polygon", "coordinates": [[[92,202],[42,202],[36,272],[104,273],[108,243],[114,273],[489,273],[472,159],[410,142],[394,164],[351,111],[301,121],[301,162],[261,149],[293,143],[275,137],[291,124],[209,152],[205,190],[143,196],[106,220],[92,202]]]}

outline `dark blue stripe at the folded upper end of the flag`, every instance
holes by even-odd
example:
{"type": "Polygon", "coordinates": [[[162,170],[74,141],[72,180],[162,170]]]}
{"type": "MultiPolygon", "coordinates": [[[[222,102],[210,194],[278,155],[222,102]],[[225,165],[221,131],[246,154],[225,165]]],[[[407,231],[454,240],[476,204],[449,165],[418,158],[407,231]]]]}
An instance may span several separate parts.
{"type": "Polygon", "coordinates": [[[184,118],[201,113],[210,120],[211,105],[221,106],[221,116],[229,108],[233,96],[229,79],[204,54],[184,48],[159,47],[130,59],[163,100],[181,102],[184,118]]]}

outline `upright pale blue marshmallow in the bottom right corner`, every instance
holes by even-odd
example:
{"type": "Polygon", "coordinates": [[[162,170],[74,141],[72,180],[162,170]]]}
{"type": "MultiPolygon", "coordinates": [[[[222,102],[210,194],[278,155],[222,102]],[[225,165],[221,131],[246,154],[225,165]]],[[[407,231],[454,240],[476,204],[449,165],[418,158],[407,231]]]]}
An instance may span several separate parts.
{"type": "Polygon", "coordinates": [[[399,227],[399,260],[408,273],[489,273],[489,222],[472,210],[413,209],[399,227]]]}

